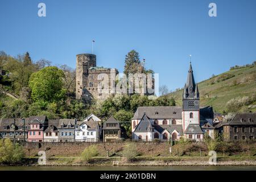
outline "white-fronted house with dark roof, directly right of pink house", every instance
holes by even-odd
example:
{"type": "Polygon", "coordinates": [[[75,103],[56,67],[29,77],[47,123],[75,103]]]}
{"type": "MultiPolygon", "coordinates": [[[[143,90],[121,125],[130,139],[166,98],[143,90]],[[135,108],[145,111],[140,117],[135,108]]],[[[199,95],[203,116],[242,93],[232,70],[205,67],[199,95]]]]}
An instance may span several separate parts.
{"type": "Polygon", "coordinates": [[[59,142],[59,119],[49,119],[48,126],[44,130],[44,142],[59,142]]]}

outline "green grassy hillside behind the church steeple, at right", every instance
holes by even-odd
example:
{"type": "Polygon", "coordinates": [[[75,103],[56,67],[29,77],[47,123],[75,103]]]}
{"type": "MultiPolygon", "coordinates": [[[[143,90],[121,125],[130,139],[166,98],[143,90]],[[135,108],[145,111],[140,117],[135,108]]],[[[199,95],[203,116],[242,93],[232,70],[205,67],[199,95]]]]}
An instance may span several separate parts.
{"type": "MultiPolygon", "coordinates": [[[[256,65],[232,67],[230,71],[199,82],[200,105],[213,106],[214,111],[256,111],[256,65]],[[230,103],[234,98],[233,105],[230,103]],[[236,100],[245,101],[236,104],[236,100]],[[229,104],[227,104],[229,102],[229,104]],[[233,107],[233,108],[232,108],[233,107]]],[[[170,93],[181,106],[183,89],[170,93]]]]}

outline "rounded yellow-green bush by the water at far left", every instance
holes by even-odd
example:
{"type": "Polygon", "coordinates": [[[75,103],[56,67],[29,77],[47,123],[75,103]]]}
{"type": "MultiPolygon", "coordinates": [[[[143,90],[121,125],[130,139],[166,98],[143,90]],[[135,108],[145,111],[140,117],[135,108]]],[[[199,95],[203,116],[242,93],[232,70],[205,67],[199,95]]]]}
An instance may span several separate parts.
{"type": "Polygon", "coordinates": [[[23,147],[18,143],[15,145],[10,139],[0,140],[0,163],[2,164],[16,164],[22,162],[25,154],[23,147]]]}

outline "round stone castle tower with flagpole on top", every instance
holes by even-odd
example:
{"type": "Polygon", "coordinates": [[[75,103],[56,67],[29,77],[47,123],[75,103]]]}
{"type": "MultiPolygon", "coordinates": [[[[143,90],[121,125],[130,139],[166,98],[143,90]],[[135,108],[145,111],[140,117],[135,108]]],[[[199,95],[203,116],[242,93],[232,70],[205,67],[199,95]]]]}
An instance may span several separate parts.
{"type": "Polygon", "coordinates": [[[76,98],[80,99],[83,89],[88,88],[89,68],[96,67],[96,55],[82,53],[76,55],[76,98]]]}

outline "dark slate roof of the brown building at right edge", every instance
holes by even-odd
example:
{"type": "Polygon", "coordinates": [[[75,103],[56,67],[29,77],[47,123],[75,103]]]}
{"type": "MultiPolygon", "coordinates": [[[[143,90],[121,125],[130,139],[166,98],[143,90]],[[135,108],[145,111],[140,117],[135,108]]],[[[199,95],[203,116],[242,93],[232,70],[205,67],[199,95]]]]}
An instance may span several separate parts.
{"type": "Polygon", "coordinates": [[[254,113],[237,113],[234,115],[232,119],[229,121],[223,121],[218,123],[215,127],[221,127],[225,125],[242,125],[242,126],[251,126],[251,125],[256,125],[256,112],[254,113]],[[250,119],[250,120],[249,120],[250,119]]]}

